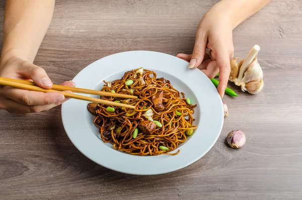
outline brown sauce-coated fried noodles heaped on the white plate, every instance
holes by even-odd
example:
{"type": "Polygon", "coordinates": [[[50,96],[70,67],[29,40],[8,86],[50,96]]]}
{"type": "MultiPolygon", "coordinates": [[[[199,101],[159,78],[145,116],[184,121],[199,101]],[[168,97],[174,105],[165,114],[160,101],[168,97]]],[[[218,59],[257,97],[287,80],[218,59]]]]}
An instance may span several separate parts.
{"type": "Polygon", "coordinates": [[[122,79],[112,82],[104,81],[101,91],[120,94],[135,95],[137,99],[122,99],[101,96],[101,99],[119,101],[134,105],[135,109],[114,107],[114,112],[106,110],[107,105],[98,104],[94,123],[99,127],[101,139],[105,143],[111,143],[113,148],[128,154],[138,156],[154,156],[160,154],[176,155],[180,152],[169,153],[187,140],[186,131],[192,131],[197,126],[193,125],[194,107],[186,102],[184,93],[177,91],[169,81],[161,78],[153,71],[141,69],[126,72],[122,79]],[[125,83],[132,80],[127,86],[125,83]],[[163,111],[156,111],[152,97],[163,91],[163,111]],[[143,116],[148,111],[152,116],[143,116]],[[152,134],[144,134],[140,129],[137,136],[133,132],[141,121],[156,120],[162,127],[156,126],[152,134]],[[160,147],[169,150],[161,150],[160,147]]]}

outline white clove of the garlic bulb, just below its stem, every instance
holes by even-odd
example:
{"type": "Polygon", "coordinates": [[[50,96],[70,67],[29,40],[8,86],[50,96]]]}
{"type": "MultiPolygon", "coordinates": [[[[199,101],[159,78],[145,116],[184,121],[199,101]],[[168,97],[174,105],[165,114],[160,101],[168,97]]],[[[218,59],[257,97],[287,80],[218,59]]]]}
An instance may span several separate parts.
{"type": "Polygon", "coordinates": [[[257,58],[255,58],[255,60],[247,67],[241,82],[244,83],[248,83],[251,81],[260,82],[262,78],[263,78],[262,69],[260,67],[259,62],[257,61],[257,58]]]}

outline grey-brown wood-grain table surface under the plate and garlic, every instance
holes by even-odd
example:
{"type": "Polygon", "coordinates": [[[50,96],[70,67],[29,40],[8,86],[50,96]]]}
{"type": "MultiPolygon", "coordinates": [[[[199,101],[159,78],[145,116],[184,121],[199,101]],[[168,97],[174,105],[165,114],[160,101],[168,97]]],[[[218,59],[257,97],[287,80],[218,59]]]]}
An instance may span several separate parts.
{"type": "MultiPolygon", "coordinates": [[[[189,53],[215,2],[57,1],[35,64],[59,84],[121,51],[189,53]]],[[[133,176],[95,164],[69,141],[60,107],[29,116],[1,110],[0,199],[302,199],[301,19],[300,1],[274,0],[234,30],[235,56],[261,46],[265,88],[253,96],[230,83],[239,97],[223,98],[230,116],[218,141],[176,172],[133,176]],[[241,150],[224,144],[233,129],[246,133],[241,150]]]]}

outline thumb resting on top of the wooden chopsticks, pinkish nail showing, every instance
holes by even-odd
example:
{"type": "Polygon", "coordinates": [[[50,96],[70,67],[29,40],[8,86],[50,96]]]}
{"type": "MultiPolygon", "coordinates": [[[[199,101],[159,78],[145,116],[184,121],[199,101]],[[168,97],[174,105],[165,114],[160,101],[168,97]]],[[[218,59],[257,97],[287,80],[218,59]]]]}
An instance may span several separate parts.
{"type": "Polygon", "coordinates": [[[33,80],[35,84],[42,88],[51,89],[53,86],[53,83],[47,76],[45,70],[35,64],[26,63],[25,65],[20,66],[19,74],[33,80]]]}

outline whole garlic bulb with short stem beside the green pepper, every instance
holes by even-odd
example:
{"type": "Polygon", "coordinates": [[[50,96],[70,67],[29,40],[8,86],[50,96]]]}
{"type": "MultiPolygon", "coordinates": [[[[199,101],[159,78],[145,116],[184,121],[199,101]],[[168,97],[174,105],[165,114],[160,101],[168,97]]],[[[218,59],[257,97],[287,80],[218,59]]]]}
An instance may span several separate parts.
{"type": "Polygon", "coordinates": [[[231,73],[229,80],[235,85],[241,86],[242,91],[250,94],[257,94],[263,88],[263,72],[257,60],[257,53],[260,50],[255,45],[245,59],[237,62],[237,58],[231,60],[231,73]]]}

